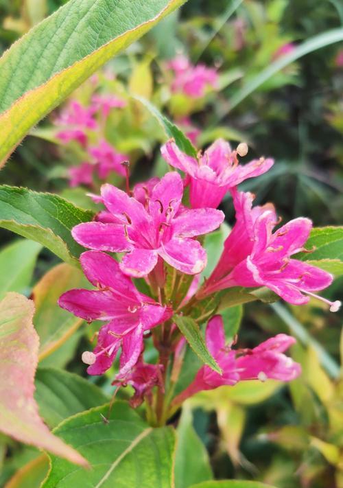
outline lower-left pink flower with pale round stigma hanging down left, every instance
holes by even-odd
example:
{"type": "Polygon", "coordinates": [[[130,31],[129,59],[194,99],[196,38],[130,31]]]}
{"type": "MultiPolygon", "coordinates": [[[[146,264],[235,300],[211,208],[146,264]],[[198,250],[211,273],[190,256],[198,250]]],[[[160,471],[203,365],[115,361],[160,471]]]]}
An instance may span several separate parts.
{"type": "Polygon", "coordinates": [[[144,332],[167,320],[171,310],[139,293],[115,259],[105,253],[86,251],[80,262],[97,290],[70,290],[62,294],[58,304],[87,322],[109,321],[99,330],[93,353],[85,351],[82,360],[90,365],[90,375],[101,375],[121,347],[118,377],[125,377],[141,355],[144,332]]]}

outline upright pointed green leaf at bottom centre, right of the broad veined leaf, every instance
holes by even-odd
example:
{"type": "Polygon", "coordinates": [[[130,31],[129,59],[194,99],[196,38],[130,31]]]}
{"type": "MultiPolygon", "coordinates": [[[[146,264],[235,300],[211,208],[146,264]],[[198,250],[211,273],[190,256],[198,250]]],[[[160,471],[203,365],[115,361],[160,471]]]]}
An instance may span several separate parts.
{"type": "Polygon", "coordinates": [[[193,483],[212,480],[209,454],[193,428],[193,415],[187,406],[182,408],[177,434],[175,487],[187,488],[193,483]]]}

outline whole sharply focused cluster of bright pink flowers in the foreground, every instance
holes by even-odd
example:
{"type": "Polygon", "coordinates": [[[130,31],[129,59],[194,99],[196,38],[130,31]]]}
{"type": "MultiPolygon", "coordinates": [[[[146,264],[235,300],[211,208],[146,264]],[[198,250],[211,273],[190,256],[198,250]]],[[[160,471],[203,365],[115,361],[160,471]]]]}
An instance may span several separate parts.
{"type": "MultiPolygon", "coordinates": [[[[182,180],[178,172],[169,172],[161,180],[152,178],[136,185],[132,193],[103,185],[101,196],[94,198],[106,210],[93,222],[79,224],[72,231],[79,244],[92,250],[83,253],[80,261],[96,290],[70,290],[59,301],[61,307],[85,321],[105,322],[94,351],[86,351],[82,359],[88,364],[89,374],[99,375],[110,368],[120,350],[119,373],[114,384],[133,386],[133,406],[139,405],[143,398],[151,398],[154,386],[163,388],[165,367],[146,364],[143,360],[145,337],[150,336],[150,331],[155,334],[154,329],[166,323],[174,337],[173,351],[177,358],[184,339],[172,316],[187,307],[190,299],[202,300],[234,286],[265,286],[285,301],[301,305],[309,297],[317,297],[314,292],[327,288],[333,279],[328,272],[292,258],[305,250],[310,220],[297,218],[274,230],[279,224],[274,206],[252,207],[252,194],[237,189],[247,178],[268,171],[274,163],[272,159],[261,158],[241,165],[239,158],[248,152],[246,144],[241,143],[233,150],[222,139],[197,158],[180,151],[174,141],[167,142],[161,151],[171,166],[185,173],[185,178],[182,180]],[[191,208],[182,204],[187,185],[191,208]],[[236,224],[226,239],[215,270],[197,292],[207,257],[196,237],[222,224],[224,213],[216,207],[227,191],[233,197],[236,224]],[[123,255],[117,262],[106,252],[123,255]],[[174,268],[179,277],[194,276],[187,296],[182,296],[180,303],[163,298],[165,264],[174,268]],[[139,292],[132,278],[144,279],[155,299],[139,292]]],[[[102,157],[99,152],[93,154],[102,157]]],[[[338,310],[338,301],[324,301],[331,311],[338,310]]],[[[222,375],[202,367],[174,402],[240,380],[294,379],[300,367],[284,355],[293,342],[293,338],[279,334],[254,349],[233,349],[233,344],[225,345],[222,318],[214,316],[206,329],[206,344],[222,375]]]]}

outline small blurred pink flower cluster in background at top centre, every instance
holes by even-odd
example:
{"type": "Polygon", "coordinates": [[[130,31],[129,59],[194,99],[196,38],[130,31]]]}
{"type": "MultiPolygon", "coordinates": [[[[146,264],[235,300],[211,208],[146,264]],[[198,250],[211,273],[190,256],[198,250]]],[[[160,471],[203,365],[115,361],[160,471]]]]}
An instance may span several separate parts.
{"type": "Polygon", "coordinates": [[[205,95],[206,89],[217,88],[217,71],[205,65],[193,66],[186,56],[176,56],[168,62],[167,67],[174,71],[174,80],[171,84],[171,91],[174,93],[201,98],[205,95]]]}

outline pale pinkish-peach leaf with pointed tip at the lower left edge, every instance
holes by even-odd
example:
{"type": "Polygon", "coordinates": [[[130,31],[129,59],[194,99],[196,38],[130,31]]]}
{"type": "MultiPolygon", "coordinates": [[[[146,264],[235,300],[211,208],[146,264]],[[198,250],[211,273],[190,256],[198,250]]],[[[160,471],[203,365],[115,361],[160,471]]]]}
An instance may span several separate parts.
{"type": "Polygon", "coordinates": [[[17,441],[86,466],[86,460],[51,434],[38,415],[34,373],[39,340],[33,315],[32,300],[18,293],[8,293],[0,302],[0,430],[17,441]]]}

